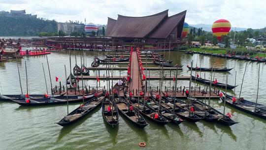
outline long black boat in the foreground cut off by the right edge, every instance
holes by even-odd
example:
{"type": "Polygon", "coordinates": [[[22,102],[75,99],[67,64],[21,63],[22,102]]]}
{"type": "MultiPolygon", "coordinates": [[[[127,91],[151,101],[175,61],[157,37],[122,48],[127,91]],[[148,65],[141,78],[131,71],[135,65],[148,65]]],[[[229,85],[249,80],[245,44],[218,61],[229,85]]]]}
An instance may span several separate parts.
{"type": "MultiPolygon", "coordinates": [[[[225,93],[223,92],[223,97],[221,97],[220,99],[222,101],[225,101],[225,93]]],[[[257,109],[256,109],[256,112],[255,112],[255,106],[256,106],[256,103],[254,102],[251,102],[251,101],[248,101],[248,100],[245,100],[245,99],[236,99],[236,102],[233,103],[232,99],[233,99],[233,96],[231,95],[226,95],[226,104],[238,109],[238,110],[241,110],[243,112],[247,112],[249,114],[252,114],[252,115],[255,115],[255,116],[258,116],[258,117],[261,117],[261,118],[264,118],[266,119],[266,106],[265,105],[262,105],[262,104],[257,104],[257,109]]]]}

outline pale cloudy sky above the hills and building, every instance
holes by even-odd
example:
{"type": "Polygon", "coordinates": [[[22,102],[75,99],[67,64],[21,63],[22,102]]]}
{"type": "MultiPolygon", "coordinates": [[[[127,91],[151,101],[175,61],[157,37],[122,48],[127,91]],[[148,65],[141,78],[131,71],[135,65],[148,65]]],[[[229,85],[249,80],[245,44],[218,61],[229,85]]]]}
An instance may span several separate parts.
{"type": "Polygon", "coordinates": [[[107,17],[147,16],[166,9],[168,15],[187,10],[188,24],[227,19],[232,27],[266,27],[266,0],[0,0],[0,11],[23,10],[58,22],[107,24],[107,17]]]}

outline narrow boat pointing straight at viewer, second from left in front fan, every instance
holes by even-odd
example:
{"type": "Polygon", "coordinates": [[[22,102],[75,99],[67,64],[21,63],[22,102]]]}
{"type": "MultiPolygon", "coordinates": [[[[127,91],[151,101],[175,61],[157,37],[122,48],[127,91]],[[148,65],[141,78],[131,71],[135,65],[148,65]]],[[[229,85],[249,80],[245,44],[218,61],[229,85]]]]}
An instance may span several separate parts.
{"type": "Polygon", "coordinates": [[[114,127],[118,124],[118,109],[116,103],[111,99],[112,97],[110,97],[110,99],[108,97],[104,97],[101,105],[101,114],[104,120],[114,127]],[[108,106],[110,106],[111,112],[107,112],[108,106]]]}

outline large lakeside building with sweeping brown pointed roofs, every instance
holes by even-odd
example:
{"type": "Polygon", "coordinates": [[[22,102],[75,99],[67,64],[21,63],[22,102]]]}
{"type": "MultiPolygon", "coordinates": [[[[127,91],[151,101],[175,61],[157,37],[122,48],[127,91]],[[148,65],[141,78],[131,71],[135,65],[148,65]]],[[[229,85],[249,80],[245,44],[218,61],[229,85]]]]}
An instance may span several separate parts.
{"type": "Polygon", "coordinates": [[[106,37],[115,43],[182,44],[185,17],[186,10],[172,16],[168,16],[168,10],[144,17],[118,14],[117,20],[108,17],[106,37]]]}

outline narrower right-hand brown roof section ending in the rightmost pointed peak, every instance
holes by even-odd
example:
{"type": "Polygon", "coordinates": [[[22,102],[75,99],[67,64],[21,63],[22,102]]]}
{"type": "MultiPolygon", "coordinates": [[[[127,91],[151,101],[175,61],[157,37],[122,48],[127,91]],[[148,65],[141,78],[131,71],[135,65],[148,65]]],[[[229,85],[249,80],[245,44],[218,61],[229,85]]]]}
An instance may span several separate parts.
{"type": "MultiPolygon", "coordinates": [[[[183,11],[180,12],[178,14],[175,14],[173,16],[167,17],[161,24],[160,26],[158,26],[154,32],[152,32],[148,38],[167,38],[169,36],[169,34],[173,31],[173,29],[179,25],[182,24],[182,28],[183,28],[183,24],[184,24],[184,20],[186,17],[186,12],[187,11],[183,11]]],[[[182,29],[181,29],[182,31],[182,29]]],[[[178,35],[179,36],[179,35],[178,35]]],[[[180,34],[181,36],[181,34],[180,34]]],[[[177,37],[177,38],[180,38],[177,37]]]]}

